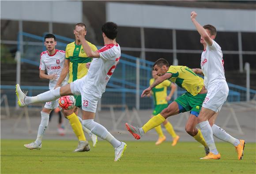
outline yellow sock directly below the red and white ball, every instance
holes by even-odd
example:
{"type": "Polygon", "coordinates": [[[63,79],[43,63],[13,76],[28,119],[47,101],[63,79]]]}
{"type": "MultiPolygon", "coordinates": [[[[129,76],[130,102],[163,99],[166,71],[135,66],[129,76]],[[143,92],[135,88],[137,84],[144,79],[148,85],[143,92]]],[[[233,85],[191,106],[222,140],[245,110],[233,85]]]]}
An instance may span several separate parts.
{"type": "Polygon", "coordinates": [[[67,116],[67,119],[69,120],[69,123],[77,136],[79,141],[86,141],[84,133],[83,133],[83,128],[82,124],[78,120],[77,116],[75,113],[72,113],[71,115],[67,116]]]}

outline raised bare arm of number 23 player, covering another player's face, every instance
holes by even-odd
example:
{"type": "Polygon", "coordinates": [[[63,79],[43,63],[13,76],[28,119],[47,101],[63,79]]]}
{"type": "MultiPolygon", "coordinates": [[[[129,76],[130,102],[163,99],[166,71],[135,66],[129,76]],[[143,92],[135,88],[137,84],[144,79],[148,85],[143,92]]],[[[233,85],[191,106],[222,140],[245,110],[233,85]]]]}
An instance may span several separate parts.
{"type": "Polygon", "coordinates": [[[85,53],[87,54],[87,56],[89,58],[99,58],[100,57],[100,54],[98,51],[92,51],[91,47],[89,46],[89,44],[87,43],[87,41],[85,40],[84,36],[84,29],[83,27],[81,26],[78,26],[77,27],[77,33],[78,33],[78,36],[79,36],[79,39],[83,45],[83,49],[85,51],[85,53]]]}

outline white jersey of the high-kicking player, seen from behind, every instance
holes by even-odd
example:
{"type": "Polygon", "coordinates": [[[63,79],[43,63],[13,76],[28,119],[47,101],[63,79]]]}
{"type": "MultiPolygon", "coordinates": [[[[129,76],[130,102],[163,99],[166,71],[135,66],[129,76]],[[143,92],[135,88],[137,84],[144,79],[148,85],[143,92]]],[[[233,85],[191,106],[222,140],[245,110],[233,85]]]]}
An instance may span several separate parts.
{"type": "Polygon", "coordinates": [[[98,52],[100,58],[93,58],[89,71],[85,76],[85,88],[101,98],[119,62],[121,50],[119,44],[108,44],[98,52]]]}

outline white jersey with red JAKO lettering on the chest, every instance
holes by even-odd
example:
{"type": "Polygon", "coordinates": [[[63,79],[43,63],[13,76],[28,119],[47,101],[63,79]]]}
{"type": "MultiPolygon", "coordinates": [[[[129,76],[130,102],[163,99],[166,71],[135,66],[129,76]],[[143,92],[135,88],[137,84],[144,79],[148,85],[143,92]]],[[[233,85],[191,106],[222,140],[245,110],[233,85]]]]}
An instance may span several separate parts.
{"type": "MultiPolygon", "coordinates": [[[[49,82],[49,89],[52,90],[59,77],[61,70],[64,67],[64,62],[65,62],[65,51],[63,50],[56,50],[55,54],[49,55],[48,51],[43,51],[41,53],[41,58],[40,58],[40,70],[45,70],[47,71],[48,75],[53,75],[56,74],[58,75],[58,78],[56,80],[50,80],[49,82]]],[[[68,84],[68,76],[63,80],[61,83],[61,86],[68,84]]]]}

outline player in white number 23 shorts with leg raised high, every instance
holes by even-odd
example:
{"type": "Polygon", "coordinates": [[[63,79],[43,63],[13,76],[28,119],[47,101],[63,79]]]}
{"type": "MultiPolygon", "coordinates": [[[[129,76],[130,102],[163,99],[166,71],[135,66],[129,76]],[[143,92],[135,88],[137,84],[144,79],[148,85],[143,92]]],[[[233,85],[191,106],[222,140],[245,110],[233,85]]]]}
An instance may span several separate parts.
{"type": "Polygon", "coordinates": [[[77,27],[77,32],[84,51],[88,57],[93,58],[90,64],[89,72],[82,79],[75,80],[63,87],[57,87],[54,90],[47,91],[34,97],[27,97],[20,89],[19,84],[16,85],[16,94],[18,96],[18,104],[23,107],[31,103],[53,101],[60,96],[68,94],[82,95],[83,109],[83,126],[91,130],[93,134],[108,141],[115,149],[114,161],[119,161],[123,156],[127,145],[118,141],[112,134],[106,130],[101,124],[94,122],[94,116],[98,104],[98,99],[105,92],[106,84],[112,76],[120,59],[120,46],[116,42],[117,24],[106,22],[102,26],[102,36],[105,46],[98,51],[92,51],[85,38],[83,38],[84,29],[77,27]]]}

